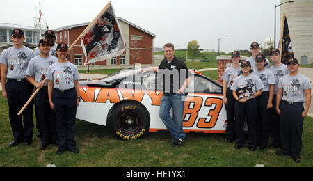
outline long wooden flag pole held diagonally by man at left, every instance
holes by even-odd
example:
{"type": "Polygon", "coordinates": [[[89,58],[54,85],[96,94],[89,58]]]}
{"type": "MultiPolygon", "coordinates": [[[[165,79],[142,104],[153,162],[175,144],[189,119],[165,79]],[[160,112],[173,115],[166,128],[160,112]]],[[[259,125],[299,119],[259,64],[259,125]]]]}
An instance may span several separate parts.
{"type": "MultiPolygon", "coordinates": [[[[72,48],[74,47],[74,45],[77,44],[77,42],[81,39],[81,37],[83,36],[83,34],[86,33],[86,31],[88,31],[88,29],[90,28],[90,26],[92,24],[94,24],[97,19],[99,19],[100,16],[102,16],[104,10],[106,10],[106,8],[108,8],[111,5],[111,1],[109,1],[108,4],[106,4],[106,6],[102,9],[102,11],[97,15],[97,17],[95,17],[95,19],[93,19],[92,22],[90,22],[90,24],[86,27],[86,29],[83,30],[83,33],[81,33],[81,35],[73,42],[73,44],[71,45],[71,47],[68,49],[68,51],[70,52],[72,50],[72,48]]],[[[47,79],[45,79],[44,81],[42,81],[44,84],[47,81],[47,79]]],[[[29,103],[31,102],[31,100],[33,100],[33,97],[35,97],[35,95],[40,91],[40,88],[37,88],[36,91],[33,93],[33,95],[31,95],[31,97],[29,98],[29,100],[26,102],[26,104],[24,104],[24,107],[22,107],[22,109],[19,111],[19,113],[17,113],[18,116],[21,116],[22,112],[26,109],[26,107],[29,105],[29,103]]]]}

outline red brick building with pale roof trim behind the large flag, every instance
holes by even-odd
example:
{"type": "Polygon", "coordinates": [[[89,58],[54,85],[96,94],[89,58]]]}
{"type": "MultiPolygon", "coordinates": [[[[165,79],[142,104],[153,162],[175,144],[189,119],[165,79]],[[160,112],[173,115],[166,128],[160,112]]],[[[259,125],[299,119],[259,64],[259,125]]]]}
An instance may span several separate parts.
{"type": "MultiPolygon", "coordinates": [[[[106,65],[106,68],[129,68],[134,67],[135,63],[141,63],[142,66],[152,65],[153,41],[157,36],[121,17],[118,17],[118,22],[126,43],[125,52],[121,56],[95,64],[106,65]]],[[[56,32],[56,42],[66,42],[70,47],[83,30],[86,29],[88,24],[89,22],[54,29],[56,32]]],[[[81,48],[81,41],[72,48],[68,61],[78,66],[82,66],[85,63],[86,57],[81,48]]]]}

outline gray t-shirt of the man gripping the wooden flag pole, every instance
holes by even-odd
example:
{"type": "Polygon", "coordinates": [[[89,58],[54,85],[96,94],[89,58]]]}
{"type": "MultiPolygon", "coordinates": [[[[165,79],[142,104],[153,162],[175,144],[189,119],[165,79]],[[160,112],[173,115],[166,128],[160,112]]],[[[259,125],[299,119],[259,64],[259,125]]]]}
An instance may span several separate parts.
{"type": "MultiPolygon", "coordinates": [[[[35,81],[42,82],[47,78],[47,72],[50,65],[54,64],[58,59],[54,56],[41,57],[40,55],[29,61],[29,67],[26,70],[26,75],[35,75],[35,81]]],[[[47,81],[45,86],[47,86],[47,81]]]]}

